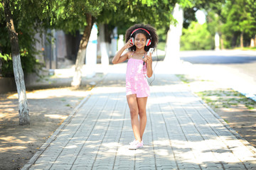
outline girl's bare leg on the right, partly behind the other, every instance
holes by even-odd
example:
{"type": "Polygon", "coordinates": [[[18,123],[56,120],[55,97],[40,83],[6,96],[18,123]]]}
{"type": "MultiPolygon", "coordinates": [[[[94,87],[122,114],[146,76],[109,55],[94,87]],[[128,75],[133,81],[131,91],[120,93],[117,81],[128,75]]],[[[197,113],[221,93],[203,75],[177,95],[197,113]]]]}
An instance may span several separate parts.
{"type": "Polygon", "coordinates": [[[144,134],[144,130],[146,128],[146,101],[147,101],[147,97],[137,98],[137,102],[139,106],[139,134],[140,134],[141,140],[144,134]]]}

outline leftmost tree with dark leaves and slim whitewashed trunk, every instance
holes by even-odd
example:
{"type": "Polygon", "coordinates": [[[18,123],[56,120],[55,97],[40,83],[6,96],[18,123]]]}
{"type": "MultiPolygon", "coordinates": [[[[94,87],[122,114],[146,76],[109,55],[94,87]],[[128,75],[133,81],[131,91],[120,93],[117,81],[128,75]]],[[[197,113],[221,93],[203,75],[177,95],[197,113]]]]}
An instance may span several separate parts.
{"type": "Polygon", "coordinates": [[[42,31],[44,25],[48,25],[48,22],[43,20],[50,16],[52,3],[53,1],[50,0],[3,0],[0,4],[1,73],[15,78],[19,125],[30,123],[23,70],[25,69],[27,73],[36,71],[38,62],[34,56],[36,54],[36,49],[33,47],[36,42],[34,35],[38,30],[42,31]],[[10,69],[13,69],[13,72],[10,72],[10,69]]]}

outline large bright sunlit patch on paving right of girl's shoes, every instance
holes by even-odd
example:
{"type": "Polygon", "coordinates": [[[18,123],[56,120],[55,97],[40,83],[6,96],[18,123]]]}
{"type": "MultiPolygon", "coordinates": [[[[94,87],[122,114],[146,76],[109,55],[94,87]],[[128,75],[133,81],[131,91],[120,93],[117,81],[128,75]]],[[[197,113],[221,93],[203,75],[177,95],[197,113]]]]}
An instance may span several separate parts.
{"type": "MultiPolygon", "coordinates": [[[[235,142],[236,139],[233,139],[233,141],[235,142]]],[[[154,140],[154,146],[160,148],[156,152],[159,156],[168,156],[170,154],[168,149],[163,149],[170,147],[168,140],[166,140],[166,142],[164,142],[164,140],[154,140]]],[[[241,150],[239,146],[228,148],[218,137],[201,141],[171,140],[171,147],[174,152],[171,154],[175,154],[178,161],[195,164],[216,162],[216,158],[221,162],[238,163],[239,160],[234,157],[233,152],[235,152],[235,154],[239,154],[238,152],[245,154],[246,152],[246,150],[241,150]]],[[[242,149],[245,149],[245,147],[242,149]]],[[[256,161],[256,158],[252,156],[253,154],[251,152],[247,152],[247,158],[242,161],[256,161]]]]}

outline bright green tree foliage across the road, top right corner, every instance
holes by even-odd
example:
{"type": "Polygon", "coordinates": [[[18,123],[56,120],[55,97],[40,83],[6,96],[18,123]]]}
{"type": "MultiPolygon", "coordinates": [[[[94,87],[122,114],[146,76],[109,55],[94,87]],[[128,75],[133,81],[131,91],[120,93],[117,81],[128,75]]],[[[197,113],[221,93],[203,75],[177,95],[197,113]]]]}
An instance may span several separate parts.
{"type": "Polygon", "coordinates": [[[188,28],[198,9],[206,11],[207,29],[213,42],[215,33],[220,34],[225,48],[240,44],[240,35],[243,33],[245,45],[250,45],[250,39],[256,35],[256,1],[254,0],[196,0],[191,6],[184,8],[183,28],[188,28]]]}

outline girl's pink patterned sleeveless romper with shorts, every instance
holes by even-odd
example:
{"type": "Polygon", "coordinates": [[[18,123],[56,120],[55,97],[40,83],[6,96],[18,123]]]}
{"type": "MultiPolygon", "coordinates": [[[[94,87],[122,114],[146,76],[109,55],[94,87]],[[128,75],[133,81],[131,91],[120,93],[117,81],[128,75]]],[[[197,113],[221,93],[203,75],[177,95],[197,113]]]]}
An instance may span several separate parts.
{"type": "Polygon", "coordinates": [[[126,74],[127,95],[137,94],[137,98],[149,96],[149,84],[146,80],[146,64],[143,60],[133,59],[127,63],[126,74]]]}

